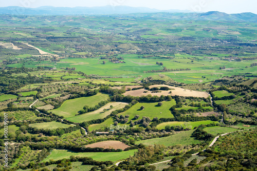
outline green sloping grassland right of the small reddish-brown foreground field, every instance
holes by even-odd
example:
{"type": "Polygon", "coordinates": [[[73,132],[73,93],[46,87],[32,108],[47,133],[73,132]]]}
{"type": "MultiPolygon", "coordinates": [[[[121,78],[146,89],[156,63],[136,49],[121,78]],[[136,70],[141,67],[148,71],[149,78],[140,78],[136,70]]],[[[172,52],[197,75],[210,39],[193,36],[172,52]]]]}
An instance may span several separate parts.
{"type": "Polygon", "coordinates": [[[163,144],[165,146],[171,146],[176,144],[190,145],[190,144],[200,143],[199,140],[195,140],[193,137],[191,137],[193,132],[194,130],[190,130],[190,131],[180,132],[169,137],[136,141],[136,144],[140,144],[140,143],[145,145],[163,144]]]}

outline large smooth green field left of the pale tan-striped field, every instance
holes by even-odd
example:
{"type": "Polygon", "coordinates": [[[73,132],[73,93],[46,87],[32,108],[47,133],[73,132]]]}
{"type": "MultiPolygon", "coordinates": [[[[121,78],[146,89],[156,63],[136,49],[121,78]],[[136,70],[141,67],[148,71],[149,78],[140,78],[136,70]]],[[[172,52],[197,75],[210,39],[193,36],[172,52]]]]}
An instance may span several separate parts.
{"type": "Polygon", "coordinates": [[[65,118],[69,118],[78,114],[80,110],[83,109],[85,105],[89,107],[94,107],[102,100],[107,100],[108,95],[98,93],[97,95],[90,97],[80,97],[76,99],[70,99],[64,101],[64,103],[58,109],[50,110],[54,114],[59,116],[64,116],[65,118]]]}

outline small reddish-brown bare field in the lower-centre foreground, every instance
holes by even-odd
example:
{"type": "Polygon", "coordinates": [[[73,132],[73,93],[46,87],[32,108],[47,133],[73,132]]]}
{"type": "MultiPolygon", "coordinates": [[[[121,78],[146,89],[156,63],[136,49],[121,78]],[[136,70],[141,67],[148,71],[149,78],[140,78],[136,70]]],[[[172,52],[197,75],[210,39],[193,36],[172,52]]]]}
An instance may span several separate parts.
{"type": "Polygon", "coordinates": [[[99,148],[104,148],[104,149],[113,148],[113,149],[124,150],[125,148],[130,147],[130,146],[128,146],[120,141],[102,141],[102,142],[97,142],[94,144],[85,145],[85,147],[90,147],[90,148],[99,147],[99,148]]]}

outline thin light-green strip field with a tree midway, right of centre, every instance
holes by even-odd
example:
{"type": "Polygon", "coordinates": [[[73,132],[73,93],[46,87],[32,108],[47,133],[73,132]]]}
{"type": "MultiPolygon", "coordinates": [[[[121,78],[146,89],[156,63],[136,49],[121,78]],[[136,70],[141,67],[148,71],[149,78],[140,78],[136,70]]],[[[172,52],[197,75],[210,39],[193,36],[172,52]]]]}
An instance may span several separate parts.
{"type": "MultiPolygon", "coordinates": [[[[183,126],[184,128],[185,125],[183,125],[185,122],[164,122],[161,124],[158,124],[156,126],[157,129],[161,130],[161,129],[165,129],[165,126],[169,125],[169,126],[183,126]]],[[[191,129],[194,129],[195,126],[199,126],[201,124],[207,125],[210,123],[218,123],[217,121],[211,121],[211,120],[204,120],[204,121],[196,121],[196,122],[187,122],[189,123],[187,126],[192,126],[191,129]]]]}

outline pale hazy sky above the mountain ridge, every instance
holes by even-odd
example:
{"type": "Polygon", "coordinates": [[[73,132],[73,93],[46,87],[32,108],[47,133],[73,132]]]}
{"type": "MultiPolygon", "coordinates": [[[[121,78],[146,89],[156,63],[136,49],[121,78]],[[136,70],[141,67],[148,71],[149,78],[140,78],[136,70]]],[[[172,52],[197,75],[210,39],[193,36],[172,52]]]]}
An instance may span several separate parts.
{"type": "Polygon", "coordinates": [[[179,9],[190,11],[220,11],[226,13],[252,12],[257,14],[256,0],[0,0],[0,7],[21,6],[36,8],[55,7],[94,7],[105,5],[125,5],[148,7],[161,10],[179,9]]]}

